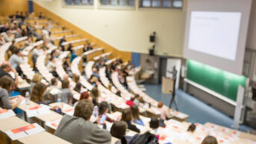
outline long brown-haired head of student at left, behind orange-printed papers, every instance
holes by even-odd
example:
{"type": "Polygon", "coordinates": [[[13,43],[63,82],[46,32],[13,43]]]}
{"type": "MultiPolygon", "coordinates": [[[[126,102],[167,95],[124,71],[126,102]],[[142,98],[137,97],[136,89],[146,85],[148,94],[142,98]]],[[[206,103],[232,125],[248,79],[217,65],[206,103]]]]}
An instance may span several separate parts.
{"type": "Polygon", "coordinates": [[[37,82],[31,91],[31,101],[44,102],[44,94],[46,94],[46,85],[42,82],[37,82]]]}

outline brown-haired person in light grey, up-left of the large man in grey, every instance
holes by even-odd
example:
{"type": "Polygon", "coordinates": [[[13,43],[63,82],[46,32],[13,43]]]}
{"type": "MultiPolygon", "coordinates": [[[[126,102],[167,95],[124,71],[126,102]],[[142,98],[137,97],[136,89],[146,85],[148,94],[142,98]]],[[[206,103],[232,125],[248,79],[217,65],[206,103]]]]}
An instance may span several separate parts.
{"type": "Polygon", "coordinates": [[[63,79],[61,83],[61,88],[62,88],[61,101],[69,105],[72,105],[73,94],[69,90],[69,80],[63,79]]]}

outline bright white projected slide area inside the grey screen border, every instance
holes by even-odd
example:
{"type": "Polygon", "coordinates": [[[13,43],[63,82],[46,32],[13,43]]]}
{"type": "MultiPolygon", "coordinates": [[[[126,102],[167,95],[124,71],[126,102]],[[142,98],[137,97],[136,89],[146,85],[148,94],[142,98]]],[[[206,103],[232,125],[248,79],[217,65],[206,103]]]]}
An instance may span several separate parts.
{"type": "Polygon", "coordinates": [[[188,48],[234,61],[240,19],[240,12],[192,11],[188,48]]]}

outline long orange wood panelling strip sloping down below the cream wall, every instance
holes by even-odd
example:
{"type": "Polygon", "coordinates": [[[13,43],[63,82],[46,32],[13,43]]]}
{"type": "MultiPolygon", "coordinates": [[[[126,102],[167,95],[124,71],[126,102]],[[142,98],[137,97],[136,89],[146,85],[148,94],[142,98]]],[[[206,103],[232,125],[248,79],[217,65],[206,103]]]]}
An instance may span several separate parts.
{"type": "Polygon", "coordinates": [[[96,38],[95,36],[91,35],[90,33],[87,33],[86,31],[82,30],[81,28],[76,27],[74,24],[71,24],[70,22],[66,21],[65,19],[60,18],[60,16],[57,16],[54,13],[51,13],[51,11],[46,10],[45,8],[41,7],[40,5],[34,3],[34,13],[36,14],[36,16],[40,12],[43,12],[45,14],[45,16],[52,19],[53,22],[57,22],[58,24],[63,25],[66,30],[72,30],[73,33],[79,34],[82,38],[88,39],[88,42],[95,43],[96,47],[104,48],[104,52],[106,52],[106,53],[111,52],[113,54],[113,57],[120,57],[125,62],[131,61],[131,52],[121,51],[121,50],[117,50],[116,48],[113,48],[111,45],[108,45],[107,43],[96,38]]]}

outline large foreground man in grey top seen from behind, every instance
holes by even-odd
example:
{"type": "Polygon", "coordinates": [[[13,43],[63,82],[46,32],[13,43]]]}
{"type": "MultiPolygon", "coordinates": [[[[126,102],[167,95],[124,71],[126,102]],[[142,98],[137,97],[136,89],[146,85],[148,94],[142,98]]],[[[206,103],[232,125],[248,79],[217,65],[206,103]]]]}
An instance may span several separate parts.
{"type": "Polygon", "coordinates": [[[75,106],[74,116],[64,115],[54,135],[70,143],[105,143],[111,141],[108,131],[90,122],[93,103],[84,99],[75,106]]]}

